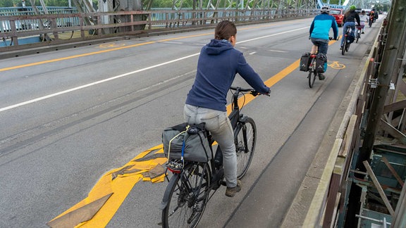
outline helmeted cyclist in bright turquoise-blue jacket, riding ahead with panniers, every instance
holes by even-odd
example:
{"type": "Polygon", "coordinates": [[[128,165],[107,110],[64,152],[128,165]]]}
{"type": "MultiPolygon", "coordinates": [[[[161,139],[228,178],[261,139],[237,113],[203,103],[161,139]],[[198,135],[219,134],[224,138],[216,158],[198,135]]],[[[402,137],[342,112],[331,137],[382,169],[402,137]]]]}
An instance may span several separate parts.
{"type": "MultiPolygon", "coordinates": [[[[334,39],[338,39],[338,25],[336,19],[330,13],[329,6],[323,6],[320,9],[320,14],[316,15],[310,25],[310,39],[312,40],[313,47],[312,53],[316,53],[317,46],[319,46],[319,53],[324,53],[327,56],[328,41],[330,28],[333,28],[334,39]]],[[[327,63],[324,63],[324,72],[327,70],[327,63]]],[[[319,80],[324,80],[326,76],[319,73],[319,80]]]]}

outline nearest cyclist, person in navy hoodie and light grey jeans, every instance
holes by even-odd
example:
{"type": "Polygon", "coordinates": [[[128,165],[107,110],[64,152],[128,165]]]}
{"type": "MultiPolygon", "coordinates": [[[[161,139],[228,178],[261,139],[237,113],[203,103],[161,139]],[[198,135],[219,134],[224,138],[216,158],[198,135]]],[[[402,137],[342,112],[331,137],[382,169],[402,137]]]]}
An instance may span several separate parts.
{"type": "Polygon", "coordinates": [[[223,20],[216,26],[214,39],[203,46],[197,62],[195,82],[187,94],[185,121],[189,124],[206,123],[206,129],[223,152],[226,196],[233,197],[241,190],[237,179],[237,156],[234,133],[227,116],[227,92],[238,73],[259,93],[268,94],[261,77],[245,61],[240,51],[234,49],[237,28],[234,23],[223,20]]]}

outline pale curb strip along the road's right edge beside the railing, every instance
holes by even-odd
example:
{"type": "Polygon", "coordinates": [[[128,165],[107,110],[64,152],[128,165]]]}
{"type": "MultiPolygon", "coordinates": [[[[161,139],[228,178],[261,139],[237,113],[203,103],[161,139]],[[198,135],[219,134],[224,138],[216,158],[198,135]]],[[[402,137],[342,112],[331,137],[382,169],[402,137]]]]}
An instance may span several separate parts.
{"type": "MultiPolygon", "coordinates": [[[[371,56],[371,53],[369,54],[371,56]]],[[[343,102],[328,127],[319,150],[307,170],[300,189],[282,222],[281,227],[321,227],[318,224],[324,213],[324,200],[327,195],[333,167],[343,141],[351,115],[355,112],[359,92],[362,89],[370,57],[364,57],[356,72],[343,102]],[[364,75],[364,77],[361,77],[364,75]],[[316,221],[317,220],[317,221],[316,221]]]]}

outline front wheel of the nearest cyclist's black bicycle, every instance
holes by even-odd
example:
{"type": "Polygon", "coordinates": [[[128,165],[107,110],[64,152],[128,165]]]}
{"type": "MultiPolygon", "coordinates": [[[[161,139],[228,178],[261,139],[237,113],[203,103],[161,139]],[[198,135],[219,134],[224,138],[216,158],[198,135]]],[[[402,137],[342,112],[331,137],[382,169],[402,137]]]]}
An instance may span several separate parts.
{"type": "Polygon", "coordinates": [[[241,179],[247,173],[254,156],[255,145],[257,144],[257,125],[252,118],[246,118],[235,129],[234,135],[237,153],[237,179],[241,179]],[[245,144],[245,139],[247,144],[245,144]]]}

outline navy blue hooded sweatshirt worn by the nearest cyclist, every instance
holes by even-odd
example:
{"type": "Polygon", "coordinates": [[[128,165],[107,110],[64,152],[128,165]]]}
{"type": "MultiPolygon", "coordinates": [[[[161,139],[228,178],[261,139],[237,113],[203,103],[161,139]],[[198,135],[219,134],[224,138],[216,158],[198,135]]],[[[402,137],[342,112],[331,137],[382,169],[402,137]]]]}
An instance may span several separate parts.
{"type": "Polygon", "coordinates": [[[186,103],[225,112],[227,92],[237,73],[260,93],[269,91],[242,53],[230,42],[211,39],[200,51],[195,83],[187,94],[186,103]]]}

